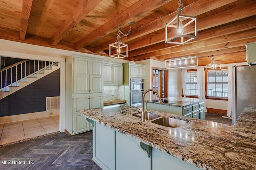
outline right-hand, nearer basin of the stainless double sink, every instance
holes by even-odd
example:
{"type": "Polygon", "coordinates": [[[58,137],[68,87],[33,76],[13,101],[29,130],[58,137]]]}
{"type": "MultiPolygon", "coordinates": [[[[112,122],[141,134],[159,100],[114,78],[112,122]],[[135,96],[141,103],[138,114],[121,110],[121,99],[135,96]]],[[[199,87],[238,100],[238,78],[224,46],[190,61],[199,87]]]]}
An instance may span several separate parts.
{"type": "Polygon", "coordinates": [[[160,117],[159,119],[152,120],[151,122],[166,127],[180,127],[188,123],[185,120],[174,119],[171,117],[160,117]]]}

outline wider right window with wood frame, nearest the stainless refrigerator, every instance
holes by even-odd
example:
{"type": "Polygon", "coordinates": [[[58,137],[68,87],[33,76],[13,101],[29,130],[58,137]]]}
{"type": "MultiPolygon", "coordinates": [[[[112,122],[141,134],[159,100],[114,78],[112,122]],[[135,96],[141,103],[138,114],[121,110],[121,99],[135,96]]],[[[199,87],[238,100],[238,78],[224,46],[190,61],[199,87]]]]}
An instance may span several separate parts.
{"type": "Polygon", "coordinates": [[[228,71],[209,71],[208,72],[208,96],[209,97],[228,97],[228,71]]]}

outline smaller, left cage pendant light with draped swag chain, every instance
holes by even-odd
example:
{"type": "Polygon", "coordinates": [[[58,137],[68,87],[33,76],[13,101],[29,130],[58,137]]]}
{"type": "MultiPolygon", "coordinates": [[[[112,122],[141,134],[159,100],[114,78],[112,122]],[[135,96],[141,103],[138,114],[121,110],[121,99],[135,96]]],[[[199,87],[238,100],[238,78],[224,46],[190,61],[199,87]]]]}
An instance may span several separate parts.
{"type": "Polygon", "coordinates": [[[128,57],[128,44],[122,43],[120,34],[124,35],[125,37],[129,35],[132,25],[134,24],[134,21],[129,23],[130,29],[127,34],[122,33],[118,27],[117,31],[117,37],[116,37],[116,42],[109,44],[109,57],[117,58],[117,59],[122,59],[124,57],[128,57]]]}

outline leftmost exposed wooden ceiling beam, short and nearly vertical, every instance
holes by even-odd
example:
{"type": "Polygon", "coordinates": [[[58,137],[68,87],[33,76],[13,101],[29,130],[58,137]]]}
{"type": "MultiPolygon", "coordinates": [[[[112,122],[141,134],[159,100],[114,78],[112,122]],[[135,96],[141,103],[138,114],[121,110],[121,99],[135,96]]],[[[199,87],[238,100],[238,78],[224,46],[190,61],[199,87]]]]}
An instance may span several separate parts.
{"type": "Polygon", "coordinates": [[[22,2],[22,12],[20,19],[20,40],[25,40],[27,28],[28,28],[28,18],[30,16],[30,11],[32,7],[33,0],[23,0],[22,2]]]}

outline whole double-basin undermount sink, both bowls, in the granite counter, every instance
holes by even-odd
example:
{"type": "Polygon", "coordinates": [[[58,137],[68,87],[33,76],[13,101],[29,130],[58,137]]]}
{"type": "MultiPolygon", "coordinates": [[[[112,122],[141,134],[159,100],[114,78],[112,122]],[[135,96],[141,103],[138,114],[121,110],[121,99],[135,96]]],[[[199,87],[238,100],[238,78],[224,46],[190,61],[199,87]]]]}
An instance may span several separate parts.
{"type": "MultiPolygon", "coordinates": [[[[134,113],[132,115],[135,117],[141,117],[141,113],[138,113],[138,115],[134,113]]],[[[185,120],[175,119],[172,117],[162,117],[160,115],[155,115],[152,113],[146,113],[146,120],[150,121],[151,123],[155,123],[165,127],[180,127],[188,123],[188,121],[185,120]]]]}

